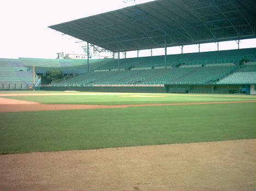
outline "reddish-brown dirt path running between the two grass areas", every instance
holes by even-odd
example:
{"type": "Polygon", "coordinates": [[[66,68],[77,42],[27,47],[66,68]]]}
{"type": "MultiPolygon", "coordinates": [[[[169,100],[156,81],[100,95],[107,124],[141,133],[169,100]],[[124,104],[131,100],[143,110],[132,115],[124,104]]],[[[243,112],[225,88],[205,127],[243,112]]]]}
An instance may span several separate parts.
{"type": "Polygon", "coordinates": [[[134,105],[84,105],[84,104],[41,104],[37,102],[28,102],[28,101],[0,97],[0,112],[127,108],[132,106],[156,106],[156,105],[227,104],[227,103],[247,103],[247,102],[256,102],[256,101],[193,102],[193,103],[138,104],[138,105],[136,104],[134,105]]]}

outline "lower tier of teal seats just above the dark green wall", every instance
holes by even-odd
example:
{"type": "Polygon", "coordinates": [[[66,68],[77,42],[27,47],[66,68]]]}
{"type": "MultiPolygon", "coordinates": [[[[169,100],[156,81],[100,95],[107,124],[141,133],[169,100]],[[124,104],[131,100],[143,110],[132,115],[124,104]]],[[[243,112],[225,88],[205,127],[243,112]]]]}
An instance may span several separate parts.
{"type": "Polygon", "coordinates": [[[149,69],[149,70],[117,70],[97,71],[63,80],[62,83],[170,83],[170,82],[197,82],[205,83],[209,77],[225,73],[232,67],[189,67],[172,69],[149,69]]]}

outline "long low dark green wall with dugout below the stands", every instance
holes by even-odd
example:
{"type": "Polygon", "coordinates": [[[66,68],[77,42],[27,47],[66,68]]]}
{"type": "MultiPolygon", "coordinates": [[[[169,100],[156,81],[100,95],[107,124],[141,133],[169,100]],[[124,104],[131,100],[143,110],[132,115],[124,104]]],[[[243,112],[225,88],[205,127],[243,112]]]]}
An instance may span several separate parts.
{"type": "Polygon", "coordinates": [[[36,87],[44,91],[81,92],[130,92],[130,93],[213,93],[213,94],[255,94],[254,85],[165,85],[164,87],[36,87]],[[250,88],[251,87],[251,88],[250,88]]]}

